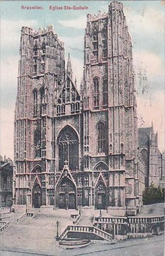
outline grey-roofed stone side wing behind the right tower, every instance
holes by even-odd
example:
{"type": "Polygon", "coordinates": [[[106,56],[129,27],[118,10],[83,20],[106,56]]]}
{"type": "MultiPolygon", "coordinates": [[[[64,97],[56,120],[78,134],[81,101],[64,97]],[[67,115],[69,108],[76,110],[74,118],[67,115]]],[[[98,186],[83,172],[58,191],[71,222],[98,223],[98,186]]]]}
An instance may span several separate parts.
{"type": "Polygon", "coordinates": [[[153,182],[156,186],[165,184],[165,154],[158,149],[158,134],[153,125],[138,129],[138,144],[145,166],[145,187],[153,182]]]}

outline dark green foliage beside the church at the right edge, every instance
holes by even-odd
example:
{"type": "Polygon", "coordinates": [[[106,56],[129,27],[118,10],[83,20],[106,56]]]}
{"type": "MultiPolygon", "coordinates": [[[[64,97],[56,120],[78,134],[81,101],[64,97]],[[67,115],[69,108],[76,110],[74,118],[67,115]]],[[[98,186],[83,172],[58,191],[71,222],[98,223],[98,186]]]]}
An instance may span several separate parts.
{"type": "Polygon", "coordinates": [[[142,193],[143,204],[152,204],[165,201],[165,189],[156,185],[152,182],[149,188],[145,188],[142,193]]]}

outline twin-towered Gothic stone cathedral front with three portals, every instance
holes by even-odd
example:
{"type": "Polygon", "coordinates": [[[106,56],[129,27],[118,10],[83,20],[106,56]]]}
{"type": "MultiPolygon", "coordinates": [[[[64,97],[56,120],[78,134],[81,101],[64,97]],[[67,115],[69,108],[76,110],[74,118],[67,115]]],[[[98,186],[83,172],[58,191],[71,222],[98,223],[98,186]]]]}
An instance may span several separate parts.
{"type": "Polygon", "coordinates": [[[122,3],[87,15],[84,73],[52,25],[22,27],[14,122],[15,207],[106,209],[136,215],[145,163],[138,150],[132,43],[122,3]]]}

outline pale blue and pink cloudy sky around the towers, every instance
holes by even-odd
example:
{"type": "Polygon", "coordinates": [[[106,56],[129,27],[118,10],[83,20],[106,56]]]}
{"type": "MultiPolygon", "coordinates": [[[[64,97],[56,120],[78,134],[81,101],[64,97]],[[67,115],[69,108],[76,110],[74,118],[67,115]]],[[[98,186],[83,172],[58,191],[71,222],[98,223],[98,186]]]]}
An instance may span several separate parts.
{"type": "MultiPolygon", "coordinates": [[[[1,1],[0,2],[0,154],[13,159],[14,109],[21,28],[36,30],[54,26],[65,43],[66,60],[71,55],[73,78],[82,77],[86,15],[108,11],[110,0],[88,1],[1,1]],[[42,6],[43,10],[25,10],[42,6]],[[88,6],[88,10],[55,10],[49,6],[88,6]],[[45,20],[45,22],[44,22],[45,20]]],[[[158,146],[165,148],[165,1],[123,0],[128,31],[133,43],[133,62],[137,89],[138,126],[153,122],[158,146]]]]}

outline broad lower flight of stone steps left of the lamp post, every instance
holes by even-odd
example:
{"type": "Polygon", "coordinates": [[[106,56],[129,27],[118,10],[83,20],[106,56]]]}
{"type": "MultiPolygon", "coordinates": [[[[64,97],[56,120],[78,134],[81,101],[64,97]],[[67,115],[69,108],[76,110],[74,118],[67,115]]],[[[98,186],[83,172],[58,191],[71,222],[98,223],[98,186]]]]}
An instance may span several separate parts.
{"type": "MultiPolygon", "coordinates": [[[[60,224],[59,232],[65,229],[60,224]]],[[[20,224],[11,224],[0,234],[0,249],[56,256],[62,251],[55,243],[56,232],[55,218],[29,217],[20,224]]]]}

